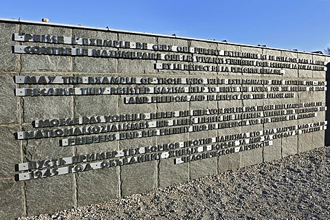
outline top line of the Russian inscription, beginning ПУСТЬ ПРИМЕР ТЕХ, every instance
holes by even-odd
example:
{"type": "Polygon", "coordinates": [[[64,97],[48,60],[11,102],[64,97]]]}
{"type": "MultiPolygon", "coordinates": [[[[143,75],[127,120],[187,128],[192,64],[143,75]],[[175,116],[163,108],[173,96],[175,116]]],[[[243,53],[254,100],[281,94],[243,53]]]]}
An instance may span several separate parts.
{"type": "MultiPolygon", "coordinates": [[[[241,143],[249,144],[250,139],[246,138],[252,138],[252,137],[260,137],[261,135],[273,135],[270,136],[270,138],[260,139],[263,140],[273,140],[273,137],[278,138],[278,135],[280,133],[285,133],[287,131],[295,131],[295,130],[301,130],[301,129],[308,129],[308,128],[314,128],[318,126],[327,126],[327,121],[325,122],[314,122],[314,123],[307,123],[307,124],[298,124],[294,126],[283,126],[278,127],[274,129],[265,129],[263,131],[251,131],[251,132],[245,132],[245,133],[236,133],[236,134],[230,134],[230,135],[222,135],[217,137],[207,137],[203,139],[197,139],[197,140],[186,140],[184,142],[174,142],[174,143],[165,143],[165,144],[157,144],[153,146],[144,146],[140,148],[129,148],[129,149],[123,149],[119,151],[106,151],[102,153],[89,153],[87,155],[76,155],[73,157],[63,157],[63,158],[56,158],[56,159],[44,159],[40,161],[30,161],[25,162],[22,164],[19,164],[18,171],[23,170],[35,170],[40,168],[47,168],[52,166],[61,166],[65,164],[76,164],[80,162],[91,162],[95,160],[101,160],[101,159],[107,159],[107,158],[113,158],[113,157],[125,157],[129,155],[135,155],[137,153],[157,153],[157,152],[164,152],[164,151],[170,151],[175,150],[177,148],[187,148],[192,146],[201,146],[201,145],[207,145],[207,144],[217,144],[212,146],[212,149],[214,148],[228,148],[229,146],[238,146],[241,143]],[[276,135],[276,136],[274,136],[276,135]],[[243,139],[245,141],[243,142],[243,139]],[[241,141],[242,140],[242,141],[241,141]],[[228,144],[232,143],[232,144],[228,144]]],[[[299,132],[298,132],[299,133],[299,132]]],[[[252,139],[251,139],[252,140],[252,139]]],[[[255,140],[255,139],[253,139],[255,140]]]]}

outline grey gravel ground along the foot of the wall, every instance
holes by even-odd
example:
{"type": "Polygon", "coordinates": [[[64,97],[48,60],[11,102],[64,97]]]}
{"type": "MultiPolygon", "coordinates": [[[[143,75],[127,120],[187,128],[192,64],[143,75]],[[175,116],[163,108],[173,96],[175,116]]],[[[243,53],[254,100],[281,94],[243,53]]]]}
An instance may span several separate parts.
{"type": "Polygon", "coordinates": [[[330,148],[23,219],[330,219],[330,148]]]}

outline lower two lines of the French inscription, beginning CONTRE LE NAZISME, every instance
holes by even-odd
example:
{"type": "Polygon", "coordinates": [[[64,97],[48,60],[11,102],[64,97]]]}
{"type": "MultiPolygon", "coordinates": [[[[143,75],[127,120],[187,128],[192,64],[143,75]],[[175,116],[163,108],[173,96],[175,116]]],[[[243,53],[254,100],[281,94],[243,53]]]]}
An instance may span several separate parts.
{"type": "Polygon", "coordinates": [[[173,69],[184,71],[202,71],[202,72],[233,72],[233,73],[248,73],[248,74],[285,74],[285,69],[305,69],[314,71],[325,71],[327,67],[318,65],[305,65],[299,63],[276,63],[276,62],[259,62],[246,61],[243,63],[236,58],[222,59],[199,59],[196,56],[157,54],[155,52],[132,52],[118,50],[97,50],[97,49],[81,49],[72,47],[39,47],[14,45],[14,53],[16,54],[43,54],[54,56],[90,56],[97,58],[121,58],[130,60],[153,60],[153,61],[175,61],[181,63],[155,63],[155,69],[173,69]],[[191,64],[200,63],[203,64],[191,64]],[[223,66],[219,66],[223,65],[223,66]],[[227,65],[241,65],[242,67],[228,67],[227,65]]]}

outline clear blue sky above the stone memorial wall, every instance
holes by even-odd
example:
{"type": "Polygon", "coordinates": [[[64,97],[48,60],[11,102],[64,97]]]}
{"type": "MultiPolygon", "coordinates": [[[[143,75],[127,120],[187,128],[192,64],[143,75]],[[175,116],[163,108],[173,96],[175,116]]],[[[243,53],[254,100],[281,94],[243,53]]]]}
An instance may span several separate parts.
{"type": "Polygon", "coordinates": [[[300,51],[330,47],[330,0],[0,0],[0,18],[176,34],[300,51]]]}

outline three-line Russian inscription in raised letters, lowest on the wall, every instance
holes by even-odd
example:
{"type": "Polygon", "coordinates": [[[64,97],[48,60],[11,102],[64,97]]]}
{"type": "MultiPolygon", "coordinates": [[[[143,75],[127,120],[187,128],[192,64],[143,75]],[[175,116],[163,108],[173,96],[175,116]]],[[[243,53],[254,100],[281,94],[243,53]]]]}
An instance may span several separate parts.
{"type": "Polygon", "coordinates": [[[19,173],[18,180],[25,181],[29,179],[38,179],[41,177],[52,177],[55,175],[64,175],[69,173],[84,172],[87,170],[96,170],[99,168],[111,168],[114,166],[124,166],[141,162],[148,162],[157,159],[175,158],[175,164],[184,162],[192,162],[210,157],[219,157],[221,155],[238,153],[241,151],[250,151],[254,148],[262,148],[272,145],[272,140],[290,137],[294,135],[302,135],[316,131],[327,129],[327,122],[316,122],[309,124],[300,124],[296,126],[283,127],[278,129],[267,129],[265,131],[255,131],[236,135],[238,140],[234,144],[210,144],[221,142],[219,137],[210,137],[207,140],[208,145],[192,147],[175,151],[177,148],[187,147],[186,142],[178,142],[172,144],[171,147],[157,153],[157,148],[151,153],[151,147],[131,148],[122,151],[111,151],[102,153],[93,153],[90,156],[77,155],[74,157],[63,157],[58,159],[46,159],[40,162],[25,162],[18,164],[19,171],[32,170],[31,172],[19,173]],[[264,135],[265,134],[265,135],[264,135]],[[252,136],[252,137],[251,137],[252,136]],[[246,137],[250,137],[245,139],[246,137]],[[232,147],[234,146],[234,147],[232,147]],[[174,149],[174,151],[173,151],[174,149]],[[148,153],[148,154],[146,154],[148,153]],[[128,157],[127,157],[128,156],[128,157]],[[131,156],[131,157],[129,157],[131,156]],[[122,159],[115,157],[123,157],[122,159]],[[87,162],[84,164],[78,164],[87,162]],[[76,165],[75,165],[76,164],[76,165]],[[69,166],[65,166],[69,165],[69,166]],[[58,167],[59,166],[59,167],[58,167]]]}

